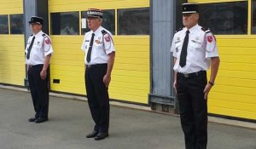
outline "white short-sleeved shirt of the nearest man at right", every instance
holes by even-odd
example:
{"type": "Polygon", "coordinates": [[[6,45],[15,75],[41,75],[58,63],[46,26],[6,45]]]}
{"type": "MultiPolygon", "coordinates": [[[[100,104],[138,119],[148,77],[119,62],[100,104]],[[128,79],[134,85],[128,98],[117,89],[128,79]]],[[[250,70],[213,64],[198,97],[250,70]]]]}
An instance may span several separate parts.
{"type": "Polygon", "coordinates": [[[184,27],[176,32],[172,39],[171,52],[177,58],[173,70],[184,74],[207,71],[210,68],[211,57],[218,57],[218,47],[212,32],[203,29],[199,25],[189,29],[186,66],[179,66],[180,54],[187,30],[184,27]]]}

